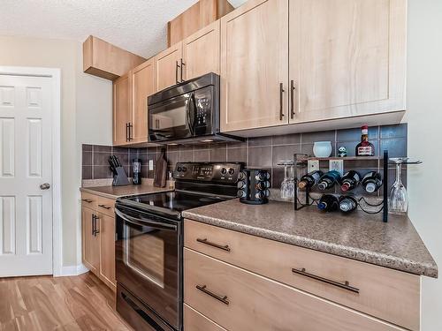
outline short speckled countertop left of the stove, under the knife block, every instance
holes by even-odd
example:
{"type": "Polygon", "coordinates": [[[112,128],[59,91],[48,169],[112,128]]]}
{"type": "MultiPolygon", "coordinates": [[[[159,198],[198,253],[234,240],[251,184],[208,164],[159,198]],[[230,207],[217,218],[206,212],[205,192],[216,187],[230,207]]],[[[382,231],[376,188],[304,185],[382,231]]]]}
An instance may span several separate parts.
{"type": "Polygon", "coordinates": [[[126,197],[130,195],[148,194],[156,192],[171,191],[169,186],[155,187],[153,184],[141,184],[141,185],[126,185],[126,186],[95,186],[95,187],[80,187],[81,192],[87,192],[91,194],[100,195],[104,198],[117,199],[120,197],[126,197]]]}

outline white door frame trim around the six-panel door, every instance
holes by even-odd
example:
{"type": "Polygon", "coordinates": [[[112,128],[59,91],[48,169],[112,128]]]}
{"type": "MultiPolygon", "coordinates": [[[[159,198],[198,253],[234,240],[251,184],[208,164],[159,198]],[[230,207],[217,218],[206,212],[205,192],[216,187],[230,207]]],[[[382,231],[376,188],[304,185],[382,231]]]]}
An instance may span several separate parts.
{"type": "Polygon", "coordinates": [[[58,68],[0,66],[0,75],[49,77],[52,82],[52,273],[62,275],[61,71],[58,68]]]}

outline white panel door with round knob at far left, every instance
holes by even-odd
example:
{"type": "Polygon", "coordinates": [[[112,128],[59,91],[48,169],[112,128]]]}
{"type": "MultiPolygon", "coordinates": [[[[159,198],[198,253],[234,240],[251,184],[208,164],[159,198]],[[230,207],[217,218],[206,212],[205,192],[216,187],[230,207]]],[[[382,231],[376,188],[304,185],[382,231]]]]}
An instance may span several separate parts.
{"type": "Polygon", "coordinates": [[[0,277],[52,274],[52,109],[50,78],[0,75],[0,277]]]}

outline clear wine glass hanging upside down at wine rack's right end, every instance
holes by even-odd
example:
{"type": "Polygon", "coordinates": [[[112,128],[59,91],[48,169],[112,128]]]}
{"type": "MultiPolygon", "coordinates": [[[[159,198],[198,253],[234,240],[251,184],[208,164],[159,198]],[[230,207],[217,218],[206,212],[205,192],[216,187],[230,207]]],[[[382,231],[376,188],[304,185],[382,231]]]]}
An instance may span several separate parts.
{"type": "Polygon", "coordinates": [[[390,199],[388,200],[388,209],[392,214],[407,213],[408,193],[404,184],[402,184],[402,163],[407,162],[408,158],[392,158],[390,161],[396,164],[396,180],[390,190],[390,199]]]}

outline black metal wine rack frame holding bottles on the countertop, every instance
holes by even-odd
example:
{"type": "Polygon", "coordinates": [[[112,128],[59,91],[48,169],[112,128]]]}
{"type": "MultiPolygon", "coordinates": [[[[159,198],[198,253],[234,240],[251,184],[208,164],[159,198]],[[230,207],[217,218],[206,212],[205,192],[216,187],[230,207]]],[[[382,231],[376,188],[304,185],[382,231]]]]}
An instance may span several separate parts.
{"type": "MultiPolygon", "coordinates": [[[[316,158],[316,157],[308,157],[307,155],[300,155],[300,154],[294,154],[294,161],[296,162],[296,165],[298,168],[303,168],[307,165],[307,162],[309,160],[344,160],[344,161],[356,161],[356,160],[383,160],[383,168],[384,168],[384,178],[383,178],[383,199],[382,202],[378,204],[370,204],[368,203],[363,197],[356,199],[358,202],[358,207],[362,210],[362,212],[366,214],[380,214],[383,213],[383,221],[388,222],[388,150],[385,150],[383,153],[383,156],[346,156],[346,157],[327,157],[327,158],[316,158]],[[301,158],[298,158],[298,156],[301,156],[301,158]],[[364,201],[367,205],[370,207],[380,207],[377,211],[368,211],[365,210],[360,206],[360,202],[364,201]]],[[[403,164],[420,164],[421,162],[404,162],[403,164]]],[[[294,190],[294,210],[301,210],[303,207],[312,206],[317,199],[313,199],[310,197],[310,189],[309,187],[306,187],[303,193],[305,194],[305,203],[301,203],[299,200],[299,193],[298,193],[298,177],[295,177],[295,190],[294,190]]]]}

